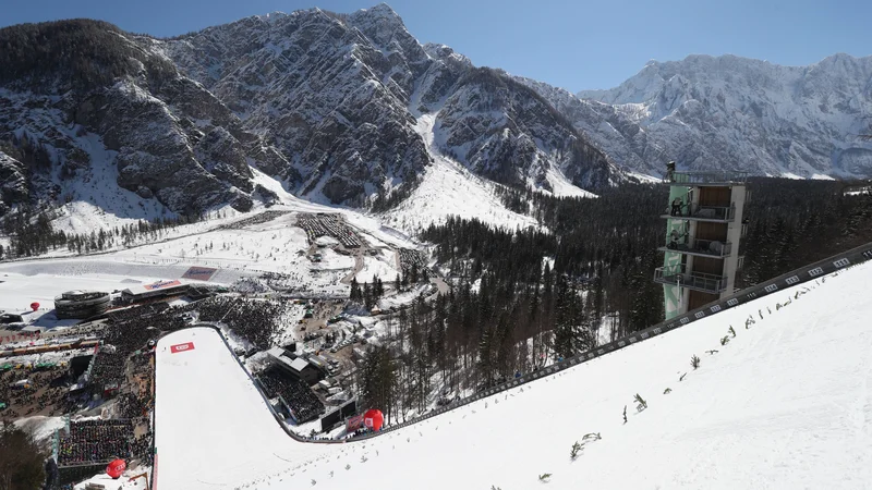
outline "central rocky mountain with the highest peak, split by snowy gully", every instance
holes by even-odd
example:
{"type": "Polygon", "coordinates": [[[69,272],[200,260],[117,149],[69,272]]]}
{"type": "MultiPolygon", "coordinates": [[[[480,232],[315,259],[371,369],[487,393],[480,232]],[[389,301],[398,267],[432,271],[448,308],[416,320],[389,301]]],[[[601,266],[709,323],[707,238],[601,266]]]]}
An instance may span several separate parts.
{"type": "Polygon", "coordinates": [[[310,198],[360,205],[415,182],[431,163],[415,131],[422,113],[438,114],[437,148],[486,177],[547,188],[552,166],[594,187],[619,175],[535,93],[447,46],[422,46],[385,4],[249,17],[164,49],[244,130],[269,135],[291,164],[265,170],[310,198]]]}

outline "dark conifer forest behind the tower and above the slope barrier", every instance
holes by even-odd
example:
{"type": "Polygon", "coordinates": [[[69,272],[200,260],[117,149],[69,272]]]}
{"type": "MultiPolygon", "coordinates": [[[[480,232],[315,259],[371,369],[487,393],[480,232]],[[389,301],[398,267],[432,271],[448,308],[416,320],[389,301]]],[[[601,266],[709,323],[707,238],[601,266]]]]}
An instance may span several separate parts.
{"type": "MultiPolygon", "coordinates": [[[[845,195],[849,184],[753,179],[737,283],[872,241],[872,196],[845,195]]],[[[389,341],[359,373],[363,402],[395,420],[423,411],[436,388],[481,389],[663,320],[652,278],[663,265],[668,187],[627,185],[595,199],[499,196],[547,230],[450,217],[421,233],[453,287],[397,314],[389,341]]]]}

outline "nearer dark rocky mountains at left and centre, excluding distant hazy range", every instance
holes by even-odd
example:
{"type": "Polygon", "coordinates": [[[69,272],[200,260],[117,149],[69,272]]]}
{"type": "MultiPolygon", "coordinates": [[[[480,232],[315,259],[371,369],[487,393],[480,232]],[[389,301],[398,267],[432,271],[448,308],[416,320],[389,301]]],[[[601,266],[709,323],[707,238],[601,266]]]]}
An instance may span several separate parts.
{"type": "Polygon", "coordinates": [[[270,199],[252,169],[311,200],[384,208],[443,156],[555,194],[626,179],[534,90],[421,45],[386,4],[272,13],[172,39],[86,20],[27,24],[0,29],[0,46],[11,68],[0,74],[4,208],[100,191],[124,207],[246,210],[270,199]],[[424,114],[429,147],[415,131],[424,114]]]}

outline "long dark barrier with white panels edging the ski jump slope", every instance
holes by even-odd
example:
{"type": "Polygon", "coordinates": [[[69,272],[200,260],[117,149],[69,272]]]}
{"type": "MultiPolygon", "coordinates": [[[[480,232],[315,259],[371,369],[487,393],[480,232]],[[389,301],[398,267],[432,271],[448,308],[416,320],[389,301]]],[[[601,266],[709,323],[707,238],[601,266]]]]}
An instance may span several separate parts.
{"type": "MultiPolygon", "coordinates": [[[[771,279],[771,280],[768,280],[766,282],[753,285],[751,287],[747,287],[747,289],[738,292],[737,294],[734,294],[734,295],[728,296],[728,297],[723,298],[723,299],[718,299],[716,302],[708,303],[705,306],[697,308],[697,309],[694,309],[692,311],[688,311],[687,314],[681,315],[679,317],[676,317],[674,319],[670,319],[669,321],[664,321],[664,322],[657,323],[655,326],[649,327],[649,328],[646,328],[644,330],[641,330],[639,332],[635,332],[635,333],[632,333],[632,334],[627,335],[625,338],[618,339],[618,340],[616,340],[614,342],[609,342],[607,344],[604,344],[604,345],[601,345],[598,347],[592,348],[592,350],[590,350],[588,352],[584,352],[584,353],[578,354],[576,356],[569,357],[567,359],[564,359],[561,363],[557,363],[557,364],[550,365],[550,366],[548,366],[546,368],[540,369],[537,371],[530,372],[528,375],[521,376],[520,378],[513,379],[513,380],[508,381],[506,383],[495,385],[495,387],[489,388],[489,389],[487,389],[487,390],[485,390],[485,391],[483,391],[481,393],[476,393],[476,394],[468,396],[465,399],[456,401],[456,402],[451,403],[448,406],[444,406],[444,407],[437,408],[435,411],[428,412],[427,414],[422,415],[420,417],[415,417],[415,418],[413,418],[411,420],[407,420],[407,421],[404,421],[402,424],[398,424],[398,425],[395,425],[395,426],[386,427],[386,428],[382,429],[378,432],[371,432],[371,433],[358,436],[358,437],[354,437],[354,438],[351,438],[351,439],[341,439],[341,440],[312,439],[312,438],[306,438],[304,436],[296,434],[293,431],[291,431],[284,425],[284,422],[282,421],[283,420],[282,416],[280,414],[278,414],[272,408],[272,405],[269,403],[269,400],[268,400],[267,395],[264,393],[263,387],[261,387],[261,383],[256,382],[256,380],[251,375],[251,372],[249,372],[249,370],[245,369],[245,367],[243,366],[242,362],[239,359],[239,357],[237,357],[235,353],[233,353],[233,350],[230,348],[230,345],[227,343],[227,339],[226,339],[226,336],[223,334],[221,334],[221,339],[223,340],[225,345],[227,346],[228,351],[230,351],[230,353],[233,355],[233,358],[237,359],[237,363],[239,363],[240,368],[243,369],[243,371],[245,371],[245,373],[249,376],[249,379],[257,388],[258,393],[261,393],[261,397],[264,400],[264,404],[268,407],[270,413],[272,413],[272,416],[276,418],[276,421],[279,424],[279,426],[284,430],[284,432],[289,437],[293,438],[294,440],[296,440],[299,442],[307,442],[307,443],[316,443],[316,444],[341,444],[341,443],[347,443],[347,442],[350,443],[350,442],[356,442],[356,441],[364,441],[364,440],[367,440],[367,439],[371,439],[371,438],[375,438],[375,437],[382,436],[383,433],[387,433],[387,432],[391,432],[391,431],[395,431],[395,430],[399,430],[399,429],[402,429],[404,427],[411,426],[413,424],[417,424],[417,422],[427,420],[431,417],[435,417],[435,416],[441,415],[441,414],[444,414],[446,412],[453,411],[456,408],[460,408],[460,407],[462,407],[462,406],[464,406],[467,404],[470,404],[472,402],[479,401],[481,399],[493,396],[493,395],[498,394],[498,393],[500,393],[502,391],[506,391],[506,390],[509,390],[509,389],[512,389],[512,388],[517,388],[517,387],[519,387],[521,384],[529,383],[530,381],[534,381],[534,380],[537,380],[540,378],[544,378],[546,376],[554,375],[554,373],[556,373],[558,371],[561,371],[564,369],[568,369],[570,367],[577,366],[577,365],[582,364],[582,363],[586,363],[588,360],[594,359],[596,357],[613,353],[615,351],[620,351],[621,348],[627,347],[627,346],[632,345],[632,344],[635,344],[638,342],[643,342],[643,341],[649,340],[649,339],[651,339],[653,336],[662,335],[662,334],[664,334],[664,333],[666,333],[666,332],[668,332],[670,330],[675,330],[675,329],[685,327],[687,324],[690,324],[690,323],[692,323],[692,322],[694,322],[697,320],[700,320],[700,319],[703,319],[703,318],[706,318],[706,317],[711,317],[713,315],[717,315],[718,313],[724,311],[724,310],[729,309],[729,308],[732,308],[735,306],[752,302],[752,301],[758,299],[760,297],[770,295],[772,293],[775,293],[777,291],[782,291],[784,289],[787,289],[787,287],[790,287],[790,286],[794,286],[794,285],[797,285],[797,284],[801,284],[803,282],[812,281],[812,280],[814,280],[816,278],[822,277],[822,275],[826,275],[826,274],[835,272],[837,270],[845,269],[845,268],[847,268],[849,266],[856,266],[858,264],[862,264],[862,262],[864,262],[867,260],[872,260],[872,243],[868,243],[865,245],[861,245],[861,246],[859,246],[857,248],[852,248],[852,249],[850,249],[848,252],[844,252],[841,254],[834,255],[833,257],[829,257],[829,258],[823,259],[821,261],[811,264],[809,266],[792,270],[792,271],[790,271],[790,272],[788,272],[786,274],[778,275],[777,278],[771,279]]],[[[214,324],[199,323],[199,324],[196,324],[195,327],[210,327],[210,328],[214,328],[214,329],[218,330],[219,333],[220,333],[220,329],[218,329],[218,327],[216,327],[214,324]]],[[[155,366],[155,368],[157,369],[157,365],[155,366]]],[[[157,376],[155,376],[155,379],[157,379],[157,376]]],[[[157,422],[157,420],[155,420],[155,422],[157,422]]],[[[155,454],[155,456],[156,456],[155,457],[155,473],[157,473],[157,454],[155,454]]]]}

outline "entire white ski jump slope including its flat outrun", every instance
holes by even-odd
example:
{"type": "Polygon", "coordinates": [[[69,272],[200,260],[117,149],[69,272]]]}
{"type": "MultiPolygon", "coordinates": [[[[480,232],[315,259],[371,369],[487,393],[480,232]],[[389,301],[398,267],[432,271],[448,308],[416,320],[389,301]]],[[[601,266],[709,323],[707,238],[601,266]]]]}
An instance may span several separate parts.
{"type": "MultiPolygon", "coordinates": [[[[569,468],[574,476],[560,482],[555,473],[555,488],[655,482],[668,488],[762,488],[773,482],[788,488],[791,481],[791,488],[861,488],[872,483],[872,446],[862,442],[872,437],[872,397],[860,385],[872,382],[872,340],[863,327],[872,314],[872,268],[864,265],[836,278],[832,287],[829,280],[824,287],[812,283],[819,291],[801,283],[870,258],[872,244],[839,254],[435,411],[415,419],[414,428],[408,427],[412,421],[390,427],[365,444],[312,444],[288,437],[217,330],[173,332],[157,346],[153,489],[304,488],[316,479],[318,488],[379,489],[508,488],[516,479],[530,479],[530,485],[511,487],[530,488],[538,482],[522,475],[523,469],[538,475],[562,468],[555,462],[567,460],[569,445],[585,432],[601,430],[610,442],[590,448],[602,449],[602,457],[585,456],[583,467],[569,468]],[[812,299],[800,298],[806,292],[812,299]],[[775,293],[782,294],[761,301],[775,293]],[[775,301],[795,298],[798,305],[787,307],[787,314],[773,315],[778,309],[775,301]],[[776,319],[764,321],[763,316],[776,319]],[[761,324],[746,330],[749,317],[761,324]],[[691,322],[692,329],[661,335],[691,322]],[[728,326],[739,336],[719,346],[717,340],[728,326]],[[652,341],[642,342],[647,339],[652,341]],[[750,344],[741,347],[742,342],[750,344]],[[605,356],[588,362],[625,347],[633,350],[632,359],[605,356]],[[710,357],[706,348],[722,353],[710,357]],[[710,370],[691,370],[692,354],[703,357],[710,370]],[[578,367],[567,370],[572,366],[578,367]],[[682,371],[691,373],[679,381],[682,371]],[[546,384],[525,384],[544,377],[546,384]],[[676,394],[659,395],[665,388],[676,394]],[[691,389],[692,396],[687,391],[691,389]],[[530,391],[535,391],[532,399],[530,391]],[[673,413],[631,413],[631,422],[643,414],[649,417],[645,426],[635,426],[645,429],[618,438],[609,430],[625,429],[613,419],[620,418],[622,406],[632,405],[637,391],[644,391],[652,406],[669,404],[673,413]],[[518,424],[540,412],[535,424],[518,424]],[[439,414],[444,416],[432,419],[439,414]],[[676,426],[674,419],[682,420],[676,426]],[[443,430],[434,432],[433,426],[443,430]],[[810,426],[814,427],[806,434],[810,426]],[[425,431],[433,434],[432,443],[415,444],[425,431]],[[538,441],[561,434],[566,441],[538,441]],[[786,449],[792,445],[796,449],[786,449]],[[375,460],[379,450],[389,457],[375,460]],[[845,457],[846,451],[851,457],[845,457]],[[498,455],[498,465],[488,463],[492,457],[483,457],[483,452],[498,455]],[[351,470],[365,461],[365,474],[351,470]],[[814,479],[834,471],[835,481],[814,479]],[[775,479],[768,479],[773,475],[775,479]]],[[[360,440],[367,439],[372,438],[360,440]]],[[[594,453],[585,449],[585,454],[594,453]]]]}

